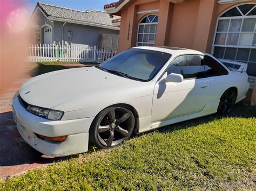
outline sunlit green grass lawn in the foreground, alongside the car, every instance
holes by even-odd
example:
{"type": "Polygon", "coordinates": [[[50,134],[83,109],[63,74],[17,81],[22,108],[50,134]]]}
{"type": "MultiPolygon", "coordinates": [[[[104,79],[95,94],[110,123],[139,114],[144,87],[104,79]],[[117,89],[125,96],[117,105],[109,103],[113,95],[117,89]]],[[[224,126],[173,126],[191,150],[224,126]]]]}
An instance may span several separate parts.
{"type": "Polygon", "coordinates": [[[0,189],[255,189],[256,107],[134,136],[0,181],[0,189]]]}

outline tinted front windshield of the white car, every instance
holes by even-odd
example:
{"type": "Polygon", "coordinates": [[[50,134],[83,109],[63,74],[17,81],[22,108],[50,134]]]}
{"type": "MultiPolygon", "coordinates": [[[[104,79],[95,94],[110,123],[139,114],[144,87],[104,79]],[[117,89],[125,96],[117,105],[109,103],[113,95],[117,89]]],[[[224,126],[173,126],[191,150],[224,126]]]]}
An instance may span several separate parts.
{"type": "Polygon", "coordinates": [[[132,48],[98,66],[98,68],[133,80],[150,81],[171,58],[171,54],[132,48]]]}

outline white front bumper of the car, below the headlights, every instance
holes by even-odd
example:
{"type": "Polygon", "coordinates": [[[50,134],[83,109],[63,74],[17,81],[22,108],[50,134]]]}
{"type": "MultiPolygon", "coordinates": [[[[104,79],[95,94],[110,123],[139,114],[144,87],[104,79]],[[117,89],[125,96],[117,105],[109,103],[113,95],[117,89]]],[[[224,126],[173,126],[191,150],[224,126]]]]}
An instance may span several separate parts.
{"type": "Polygon", "coordinates": [[[22,138],[35,150],[52,156],[64,156],[88,151],[89,128],[93,117],[66,121],[50,121],[26,111],[16,93],[12,100],[14,118],[22,138]],[[64,142],[51,142],[36,136],[67,136],[64,142]]]}

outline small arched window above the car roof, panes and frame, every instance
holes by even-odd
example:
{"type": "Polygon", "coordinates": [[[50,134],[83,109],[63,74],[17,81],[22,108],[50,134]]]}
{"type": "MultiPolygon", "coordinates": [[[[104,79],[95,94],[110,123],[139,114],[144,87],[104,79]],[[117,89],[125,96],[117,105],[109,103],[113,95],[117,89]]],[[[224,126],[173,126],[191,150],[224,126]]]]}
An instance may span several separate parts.
{"type": "Polygon", "coordinates": [[[157,15],[146,16],[139,23],[137,46],[154,46],[157,34],[157,15]]]}

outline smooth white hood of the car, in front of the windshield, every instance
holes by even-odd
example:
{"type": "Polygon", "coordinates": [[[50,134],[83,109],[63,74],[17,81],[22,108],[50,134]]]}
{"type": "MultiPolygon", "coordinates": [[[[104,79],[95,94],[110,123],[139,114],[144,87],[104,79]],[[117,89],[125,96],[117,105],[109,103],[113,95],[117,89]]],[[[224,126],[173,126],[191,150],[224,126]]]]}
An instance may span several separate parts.
{"type": "Polygon", "coordinates": [[[96,94],[114,94],[114,91],[138,87],[142,83],[107,73],[96,67],[64,69],[26,81],[19,90],[19,95],[31,105],[51,109],[96,94]]]}

